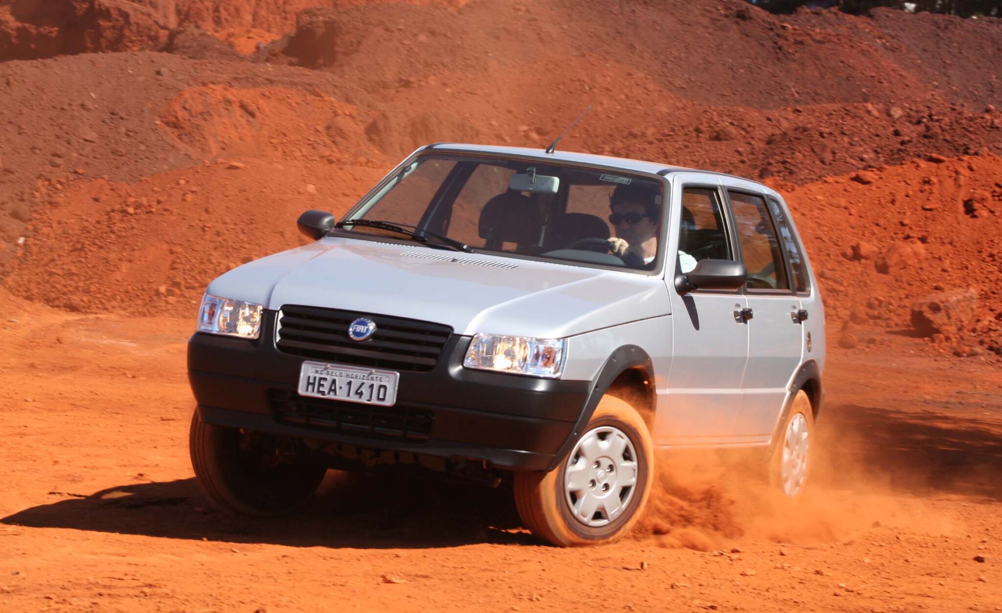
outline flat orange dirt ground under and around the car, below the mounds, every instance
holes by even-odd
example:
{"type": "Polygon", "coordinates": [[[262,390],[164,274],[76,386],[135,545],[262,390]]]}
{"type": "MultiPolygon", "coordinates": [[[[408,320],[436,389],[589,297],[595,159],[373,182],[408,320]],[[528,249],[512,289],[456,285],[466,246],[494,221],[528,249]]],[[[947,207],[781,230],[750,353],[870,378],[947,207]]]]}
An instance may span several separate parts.
{"type": "Polygon", "coordinates": [[[436,481],[332,474],[292,518],[212,512],[184,444],[190,318],[2,299],[4,610],[1002,610],[1002,378],[919,341],[833,352],[801,505],[662,457],[630,538],[560,550],[510,492],[436,481]]]}

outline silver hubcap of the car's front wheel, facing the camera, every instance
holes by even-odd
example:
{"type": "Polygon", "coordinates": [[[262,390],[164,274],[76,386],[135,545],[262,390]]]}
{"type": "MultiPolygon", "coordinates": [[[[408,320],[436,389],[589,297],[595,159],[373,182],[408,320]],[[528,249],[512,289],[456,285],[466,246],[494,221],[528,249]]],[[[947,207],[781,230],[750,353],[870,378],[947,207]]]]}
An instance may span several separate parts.
{"type": "Polygon", "coordinates": [[[567,504],[585,526],[604,526],[629,505],[636,480],[633,444],[619,429],[600,426],[581,437],[567,460],[567,504]]]}

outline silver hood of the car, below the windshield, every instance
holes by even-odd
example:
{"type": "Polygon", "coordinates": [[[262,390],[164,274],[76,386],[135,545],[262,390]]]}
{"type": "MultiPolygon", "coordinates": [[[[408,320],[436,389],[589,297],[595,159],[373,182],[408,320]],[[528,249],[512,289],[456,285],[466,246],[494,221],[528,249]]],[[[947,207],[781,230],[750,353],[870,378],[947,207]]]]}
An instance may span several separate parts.
{"type": "Polygon", "coordinates": [[[670,313],[653,276],[340,237],[233,268],[207,291],[276,311],[435,322],[462,335],[561,338],[670,313]]]}

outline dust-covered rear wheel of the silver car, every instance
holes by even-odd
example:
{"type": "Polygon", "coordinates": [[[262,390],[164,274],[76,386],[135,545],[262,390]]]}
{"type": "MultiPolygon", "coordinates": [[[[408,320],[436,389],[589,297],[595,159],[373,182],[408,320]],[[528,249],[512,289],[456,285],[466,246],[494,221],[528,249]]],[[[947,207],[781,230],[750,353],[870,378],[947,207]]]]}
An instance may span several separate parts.
{"type": "Polygon", "coordinates": [[[769,482],[787,497],[797,498],[810,484],[816,455],[812,449],[817,447],[814,411],[803,390],[797,392],[794,405],[777,432],[779,439],[769,462],[769,482]]]}

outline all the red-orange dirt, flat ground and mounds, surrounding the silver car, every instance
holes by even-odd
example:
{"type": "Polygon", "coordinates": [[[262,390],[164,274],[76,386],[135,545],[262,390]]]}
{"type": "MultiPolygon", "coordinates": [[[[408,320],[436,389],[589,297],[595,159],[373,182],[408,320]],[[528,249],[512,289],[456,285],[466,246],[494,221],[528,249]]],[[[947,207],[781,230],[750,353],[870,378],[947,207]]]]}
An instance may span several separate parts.
{"type": "Polygon", "coordinates": [[[998,65],[998,19],[884,9],[0,0],[0,609],[1002,610],[998,65]],[[807,500],[672,454],[598,549],[435,480],[207,509],[184,376],[205,283],[420,144],[545,146],[588,104],[561,147],[787,194],[832,350],[807,500]],[[949,292],[959,324],[913,320],[949,292]]]}

